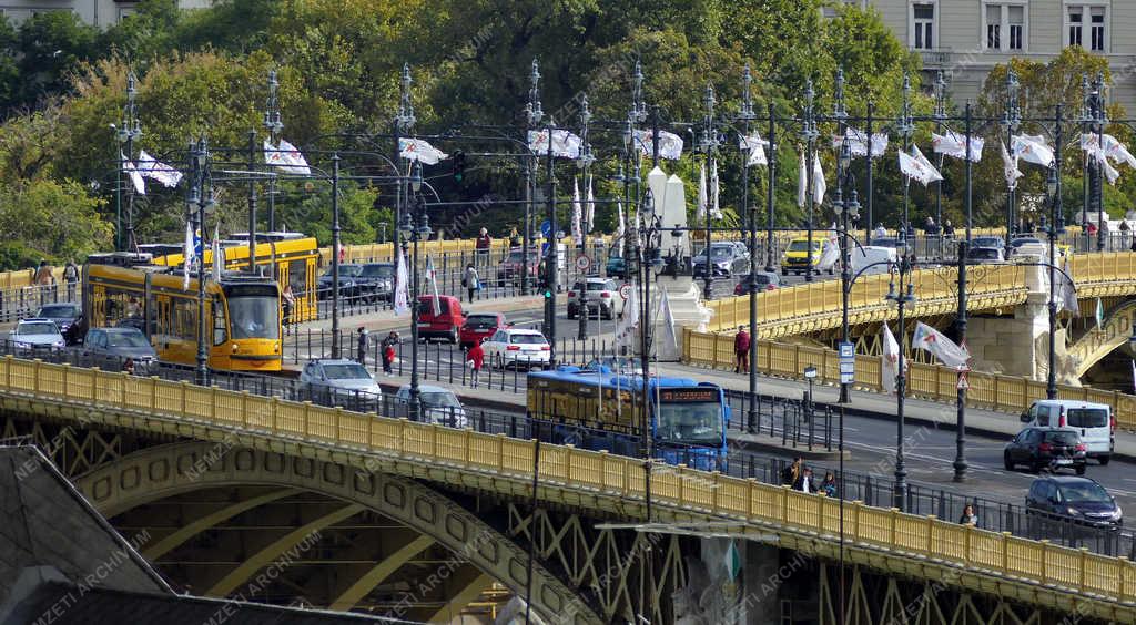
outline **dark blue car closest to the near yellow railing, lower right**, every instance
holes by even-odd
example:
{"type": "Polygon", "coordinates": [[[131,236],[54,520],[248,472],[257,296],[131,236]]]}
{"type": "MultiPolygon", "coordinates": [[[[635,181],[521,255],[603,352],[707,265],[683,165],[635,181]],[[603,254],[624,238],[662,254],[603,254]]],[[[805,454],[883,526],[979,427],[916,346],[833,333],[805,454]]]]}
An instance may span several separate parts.
{"type": "Polygon", "coordinates": [[[1045,475],[1034,480],[1026,495],[1027,515],[1069,517],[1080,525],[1119,527],[1124,513],[1104,487],[1088,478],[1045,475]]]}

